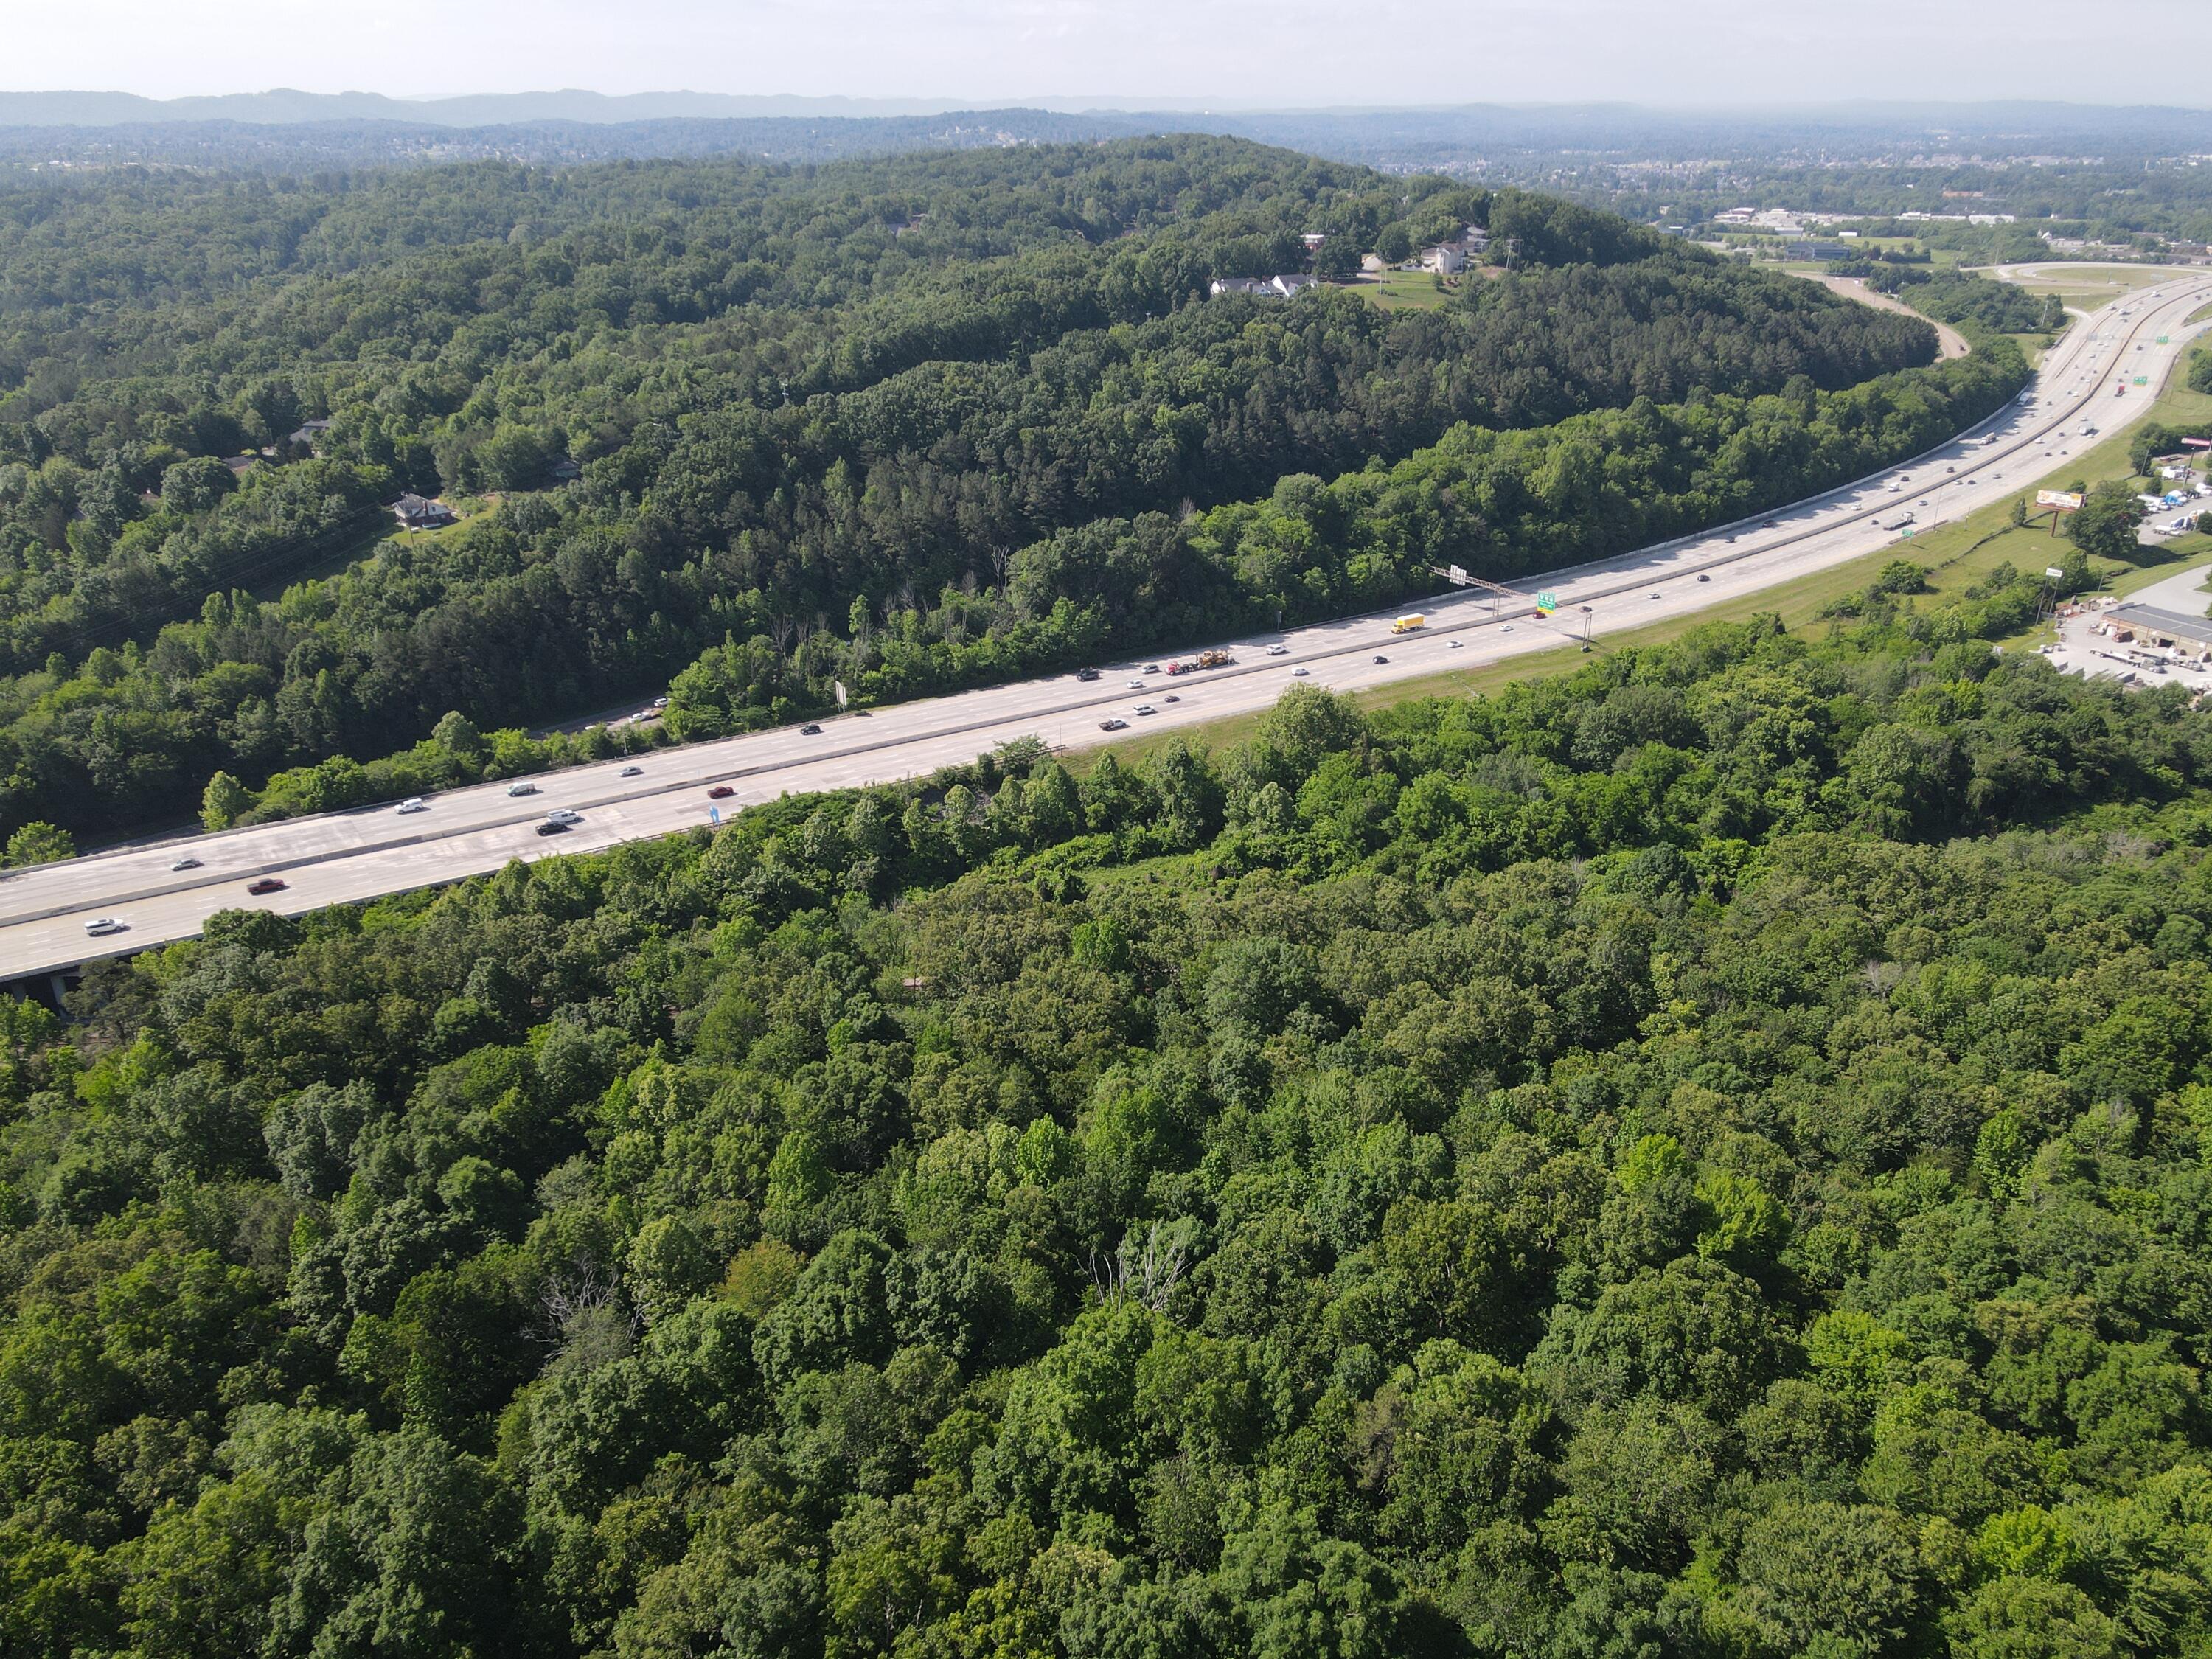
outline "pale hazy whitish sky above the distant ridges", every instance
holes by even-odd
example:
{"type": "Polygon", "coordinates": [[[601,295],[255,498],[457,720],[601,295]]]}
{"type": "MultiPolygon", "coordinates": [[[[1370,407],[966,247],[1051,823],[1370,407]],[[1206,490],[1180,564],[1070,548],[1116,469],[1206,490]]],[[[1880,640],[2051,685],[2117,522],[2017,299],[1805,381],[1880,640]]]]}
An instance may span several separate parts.
{"type": "Polygon", "coordinates": [[[2203,104],[2203,0],[0,0],[0,86],[2203,104]]]}

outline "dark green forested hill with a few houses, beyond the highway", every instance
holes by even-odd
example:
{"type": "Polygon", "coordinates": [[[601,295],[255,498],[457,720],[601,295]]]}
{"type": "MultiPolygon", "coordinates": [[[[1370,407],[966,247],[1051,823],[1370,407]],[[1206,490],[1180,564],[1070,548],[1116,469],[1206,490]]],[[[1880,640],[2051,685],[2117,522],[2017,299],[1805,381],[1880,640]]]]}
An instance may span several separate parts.
{"type": "Polygon", "coordinates": [[[0,219],[0,830],[175,823],[210,783],[228,816],[272,774],[254,810],[345,805],[449,712],[551,721],[692,664],[697,734],[836,677],[1385,604],[1840,482],[2020,372],[1922,367],[1916,319],[1608,215],[1230,139],[117,177],[0,219]],[[1433,310],[1208,299],[1467,226],[1506,263],[1433,310]],[[239,484],[248,447],[279,453],[239,484]],[[1394,465],[1431,484],[1374,546],[1358,515],[1307,553],[1177,540],[1394,465]],[[403,487],[484,511],[349,557],[403,487]]]}

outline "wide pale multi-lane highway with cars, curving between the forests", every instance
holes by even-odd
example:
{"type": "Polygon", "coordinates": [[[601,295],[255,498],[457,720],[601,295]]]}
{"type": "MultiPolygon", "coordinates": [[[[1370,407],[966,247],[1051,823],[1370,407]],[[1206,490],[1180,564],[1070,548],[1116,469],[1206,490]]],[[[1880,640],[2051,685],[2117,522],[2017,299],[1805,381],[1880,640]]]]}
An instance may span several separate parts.
{"type": "Polygon", "coordinates": [[[1610,628],[1692,615],[1889,546],[1898,535],[1885,526],[1902,513],[1929,529],[2062,473],[2068,451],[2079,453],[2141,418],[2168,367],[2201,332],[2183,319],[2208,299],[2212,270],[2177,270],[2157,299],[2146,290],[2112,301],[2075,323],[2051,352],[2033,383],[2033,405],[2008,405],[1913,462],[1761,520],[1520,580],[1524,593],[1557,595],[1555,617],[1540,617],[1528,602],[1455,591],[1409,602],[1405,611],[1422,611],[1427,626],[1402,637],[1391,635],[1387,615],[1347,617],[1230,641],[1234,668],[1168,677],[1141,672],[1141,659],[1124,661],[1091,684],[1060,675],[856,712],[823,721],[818,737],[781,728],[538,774],[535,794],[520,799],[507,783],[487,783],[431,796],[418,814],[363,807],[40,865],[0,880],[0,980],[190,938],[221,909],[296,916],[409,891],[493,872],[513,858],[699,827],[710,814],[728,816],[779,794],[927,774],[1018,737],[1091,748],[1265,708],[1298,679],[1363,690],[1546,650],[1584,628],[1601,639],[1610,628]],[[2159,334],[2170,343],[2159,345],[2159,334]],[[2128,385],[2115,398],[2115,383],[2139,374],[2148,385],[2128,385]],[[2097,438],[2075,436],[2084,420],[2099,427],[2097,438]],[[1139,703],[1155,712],[1137,714],[1139,703]],[[1110,717],[1128,730],[1099,730],[1110,717]],[[639,774],[622,776],[626,765],[639,774]],[[732,794],[712,801],[712,785],[732,794]],[[582,814],[582,823],[557,836],[535,834],[555,807],[582,814]],[[179,856],[197,858],[199,867],[173,869],[179,856]],[[246,885],[261,876],[285,885],[250,896],[246,885]],[[93,918],[124,927],[93,938],[86,933],[93,918]]]}

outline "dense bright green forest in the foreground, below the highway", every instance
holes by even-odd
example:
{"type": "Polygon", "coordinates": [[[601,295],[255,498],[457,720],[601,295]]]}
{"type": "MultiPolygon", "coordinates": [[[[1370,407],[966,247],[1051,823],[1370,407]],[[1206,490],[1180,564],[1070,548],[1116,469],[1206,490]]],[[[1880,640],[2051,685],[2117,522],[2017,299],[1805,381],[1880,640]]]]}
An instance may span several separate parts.
{"type": "Polygon", "coordinates": [[[2212,717],[2039,593],[7,1006],[0,1650],[2203,1652],[2212,717]]]}

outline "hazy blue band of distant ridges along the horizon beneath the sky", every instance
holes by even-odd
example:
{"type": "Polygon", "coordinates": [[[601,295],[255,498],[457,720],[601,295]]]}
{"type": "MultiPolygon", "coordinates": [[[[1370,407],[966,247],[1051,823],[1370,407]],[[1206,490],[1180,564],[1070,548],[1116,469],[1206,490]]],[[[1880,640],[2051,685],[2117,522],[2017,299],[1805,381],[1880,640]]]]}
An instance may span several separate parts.
{"type": "MultiPolygon", "coordinates": [[[[938,106],[929,100],[586,91],[403,100],[383,93],[0,93],[0,170],[314,173],[323,168],[748,157],[810,166],[902,150],[1088,144],[1217,133],[1385,170],[1436,170],[1577,195],[1584,164],[1790,157],[1964,161],[2046,155],[2115,166],[2212,153],[2212,113],[2090,104],[1458,104],[1405,108],[1175,108],[1137,100],[938,106]]],[[[1606,206],[1615,206],[1606,199],[1606,206]]],[[[1639,208],[1641,210],[1641,208],[1639,208]]]]}

